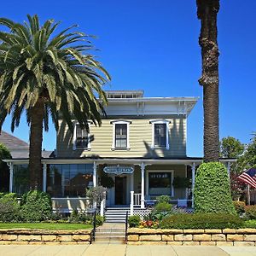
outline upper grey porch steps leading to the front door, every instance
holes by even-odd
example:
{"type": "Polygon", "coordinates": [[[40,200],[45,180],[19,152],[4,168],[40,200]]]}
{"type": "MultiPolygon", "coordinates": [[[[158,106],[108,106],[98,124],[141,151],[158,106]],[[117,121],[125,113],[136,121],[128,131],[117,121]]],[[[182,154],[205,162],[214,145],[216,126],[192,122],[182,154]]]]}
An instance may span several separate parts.
{"type": "Polygon", "coordinates": [[[130,216],[130,207],[107,207],[105,223],[125,223],[126,212],[130,216]]]}

